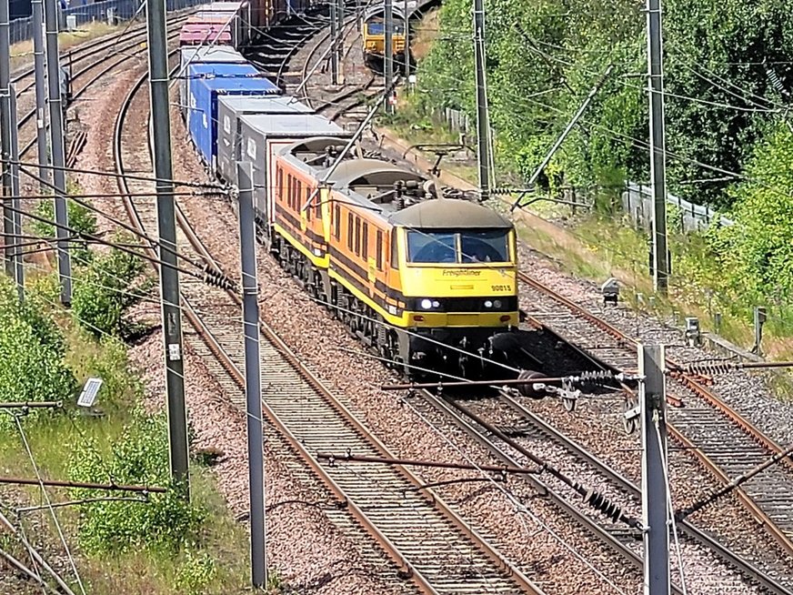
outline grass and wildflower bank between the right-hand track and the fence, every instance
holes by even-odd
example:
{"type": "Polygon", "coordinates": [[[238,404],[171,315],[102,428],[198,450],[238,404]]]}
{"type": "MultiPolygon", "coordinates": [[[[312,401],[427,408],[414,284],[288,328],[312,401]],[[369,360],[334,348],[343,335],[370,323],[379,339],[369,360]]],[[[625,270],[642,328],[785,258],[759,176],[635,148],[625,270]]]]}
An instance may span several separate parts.
{"type": "MultiPolygon", "coordinates": [[[[419,114],[409,98],[398,107],[395,116],[382,120],[389,136],[406,139],[405,145],[457,143],[457,133],[419,114]]],[[[435,160],[431,154],[422,156],[430,162],[435,160]]],[[[447,156],[441,167],[471,186],[477,184],[477,168],[470,153],[467,159],[447,156]]],[[[527,207],[531,216],[544,218],[544,222],[517,215],[517,230],[529,246],[551,257],[563,271],[596,283],[616,277],[623,286],[622,298],[631,307],[677,319],[681,324],[685,317],[697,317],[703,328],[746,349],[754,342],[752,308],[767,306],[763,354],[773,359],[793,359],[793,307],[782,299],[775,304],[750,303],[735,287],[728,287],[728,276],[710,256],[703,237],[670,232],[673,270],[669,297],[662,299],[654,296],[645,231],[632,227],[622,214],[607,216],[578,209],[573,216],[570,207],[548,205],[537,202],[527,207]]],[[[671,208],[668,217],[672,230],[676,225],[671,208]]]]}

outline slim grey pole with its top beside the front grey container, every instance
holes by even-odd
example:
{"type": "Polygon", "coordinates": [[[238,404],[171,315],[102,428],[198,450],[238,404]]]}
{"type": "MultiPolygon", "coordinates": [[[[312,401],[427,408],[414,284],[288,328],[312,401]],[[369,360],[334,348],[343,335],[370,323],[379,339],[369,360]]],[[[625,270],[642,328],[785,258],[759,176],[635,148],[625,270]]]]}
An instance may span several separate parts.
{"type": "Polygon", "coordinates": [[[262,377],[259,358],[259,302],[256,278],[256,228],[253,205],[253,167],[237,163],[239,180],[239,247],[242,262],[242,311],[245,331],[245,392],[247,408],[248,474],[251,519],[251,581],[267,581],[264,431],[262,377]]]}

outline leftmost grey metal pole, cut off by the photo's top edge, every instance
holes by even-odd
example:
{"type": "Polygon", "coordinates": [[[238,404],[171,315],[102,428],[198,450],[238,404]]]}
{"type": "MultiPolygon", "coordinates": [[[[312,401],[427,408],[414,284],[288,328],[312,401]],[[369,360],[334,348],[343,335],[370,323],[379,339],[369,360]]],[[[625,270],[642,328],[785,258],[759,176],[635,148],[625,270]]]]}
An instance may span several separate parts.
{"type": "Polygon", "coordinates": [[[14,211],[11,197],[11,38],[8,0],[0,0],[0,155],[3,157],[3,232],[5,234],[5,272],[14,277],[14,211]]]}

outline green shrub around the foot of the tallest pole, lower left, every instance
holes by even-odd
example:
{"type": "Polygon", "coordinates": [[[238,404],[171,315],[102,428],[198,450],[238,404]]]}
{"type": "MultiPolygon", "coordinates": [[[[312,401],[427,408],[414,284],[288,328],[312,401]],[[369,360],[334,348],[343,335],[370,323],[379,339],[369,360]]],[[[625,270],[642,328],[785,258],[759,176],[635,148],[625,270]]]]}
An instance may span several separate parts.
{"type": "MultiPolygon", "coordinates": [[[[77,449],[69,476],[76,481],[114,481],[117,484],[165,486],[147,502],[100,501],[81,509],[79,540],[91,553],[119,554],[133,550],[176,553],[199,539],[206,510],[182,499],[171,482],[166,415],[147,415],[136,408],[110,460],[103,459],[92,440],[77,449]]],[[[75,498],[95,498],[101,492],[75,489],[75,498]]],[[[117,494],[108,493],[107,496],[117,494]]]]}

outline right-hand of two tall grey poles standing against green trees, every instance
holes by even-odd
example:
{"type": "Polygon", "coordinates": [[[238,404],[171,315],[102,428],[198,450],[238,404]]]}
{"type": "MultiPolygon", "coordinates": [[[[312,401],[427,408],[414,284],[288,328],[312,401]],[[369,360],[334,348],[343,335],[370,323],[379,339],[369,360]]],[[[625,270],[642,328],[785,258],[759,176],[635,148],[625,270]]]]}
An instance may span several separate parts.
{"type": "Polygon", "coordinates": [[[661,0],[647,0],[647,69],[650,96],[650,176],[653,187],[653,285],[662,296],[669,285],[667,176],[664,137],[664,48],[661,0]]]}

